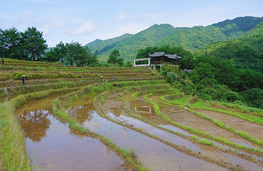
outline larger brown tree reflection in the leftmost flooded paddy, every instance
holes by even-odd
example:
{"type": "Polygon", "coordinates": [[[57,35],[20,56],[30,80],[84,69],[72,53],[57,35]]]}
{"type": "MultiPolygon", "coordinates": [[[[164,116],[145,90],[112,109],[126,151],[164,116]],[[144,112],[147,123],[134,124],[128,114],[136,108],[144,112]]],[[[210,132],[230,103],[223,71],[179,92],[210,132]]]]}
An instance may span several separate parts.
{"type": "Polygon", "coordinates": [[[19,120],[24,129],[25,136],[33,142],[39,142],[41,138],[46,136],[46,131],[51,124],[48,119],[48,110],[36,110],[20,115],[19,120]]]}

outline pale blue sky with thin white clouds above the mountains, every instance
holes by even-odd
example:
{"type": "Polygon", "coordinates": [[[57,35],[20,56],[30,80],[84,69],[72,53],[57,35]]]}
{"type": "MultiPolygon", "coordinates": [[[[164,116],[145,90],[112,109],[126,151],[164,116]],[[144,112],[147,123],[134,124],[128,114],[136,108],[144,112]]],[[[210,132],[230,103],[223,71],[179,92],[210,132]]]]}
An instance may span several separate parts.
{"type": "Polygon", "coordinates": [[[43,31],[49,47],[85,45],[154,24],[208,26],[226,19],[263,16],[262,0],[0,0],[0,28],[43,31]]]}

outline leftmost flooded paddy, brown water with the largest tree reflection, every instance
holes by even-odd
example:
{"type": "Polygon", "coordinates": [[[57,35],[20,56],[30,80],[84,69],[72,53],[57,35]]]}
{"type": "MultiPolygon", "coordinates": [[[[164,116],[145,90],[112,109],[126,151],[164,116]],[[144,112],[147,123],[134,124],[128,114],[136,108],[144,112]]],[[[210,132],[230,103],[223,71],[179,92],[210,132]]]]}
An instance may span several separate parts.
{"type": "Polygon", "coordinates": [[[26,103],[17,110],[30,155],[37,149],[32,157],[36,164],[45,170],[52,165],[51,170],[56,171],[130,170],[100,141],[72,132],[67,123],[58,120],[50,105],[55,97],[26,103]]]}

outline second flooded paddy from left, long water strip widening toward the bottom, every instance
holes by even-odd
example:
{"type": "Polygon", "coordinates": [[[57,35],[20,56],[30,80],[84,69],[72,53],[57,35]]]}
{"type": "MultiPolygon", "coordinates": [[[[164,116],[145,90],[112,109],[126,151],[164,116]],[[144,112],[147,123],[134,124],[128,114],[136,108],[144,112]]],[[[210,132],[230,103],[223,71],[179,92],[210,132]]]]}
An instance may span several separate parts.
{"type": "Polygon", "coordinates": [[[79,106],[72,105],[67,110],[71,115],[78,116],[85,127],[110,138],[117,146],[134,149],[143,165],[149,169],[177,170],[181,167],[181,170],[228,170],[178,152],[160,141],[100,117],[88,99],[84,100],[86,104],[77,101],[76,104],[80,104],[79,106]]]}

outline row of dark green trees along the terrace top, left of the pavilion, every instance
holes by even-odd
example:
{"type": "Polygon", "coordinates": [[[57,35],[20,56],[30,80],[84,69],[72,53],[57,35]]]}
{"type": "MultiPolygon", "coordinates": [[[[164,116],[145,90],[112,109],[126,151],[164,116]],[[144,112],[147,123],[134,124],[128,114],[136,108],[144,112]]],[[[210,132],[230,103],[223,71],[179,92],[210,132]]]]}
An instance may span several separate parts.
{"type": "MultiPolygon", "coordinates": [[[[0,29],[0,56],[25,61],[60,62],[62,65],[76,65],[78,67],[116,67],[124,66],[123,58],[120,58],[119,50],[111,52],[107,62],[102,65],[98,59],[98,51],[91,53],[87,46],[81,46],[79,42],[56,44],[50,51],[43,32],[35,27],[28,27],[25,32],[19,32],[16,28],[0,29]]],[[[131,67],[130,63],[126,63],[131,67]]]]}

